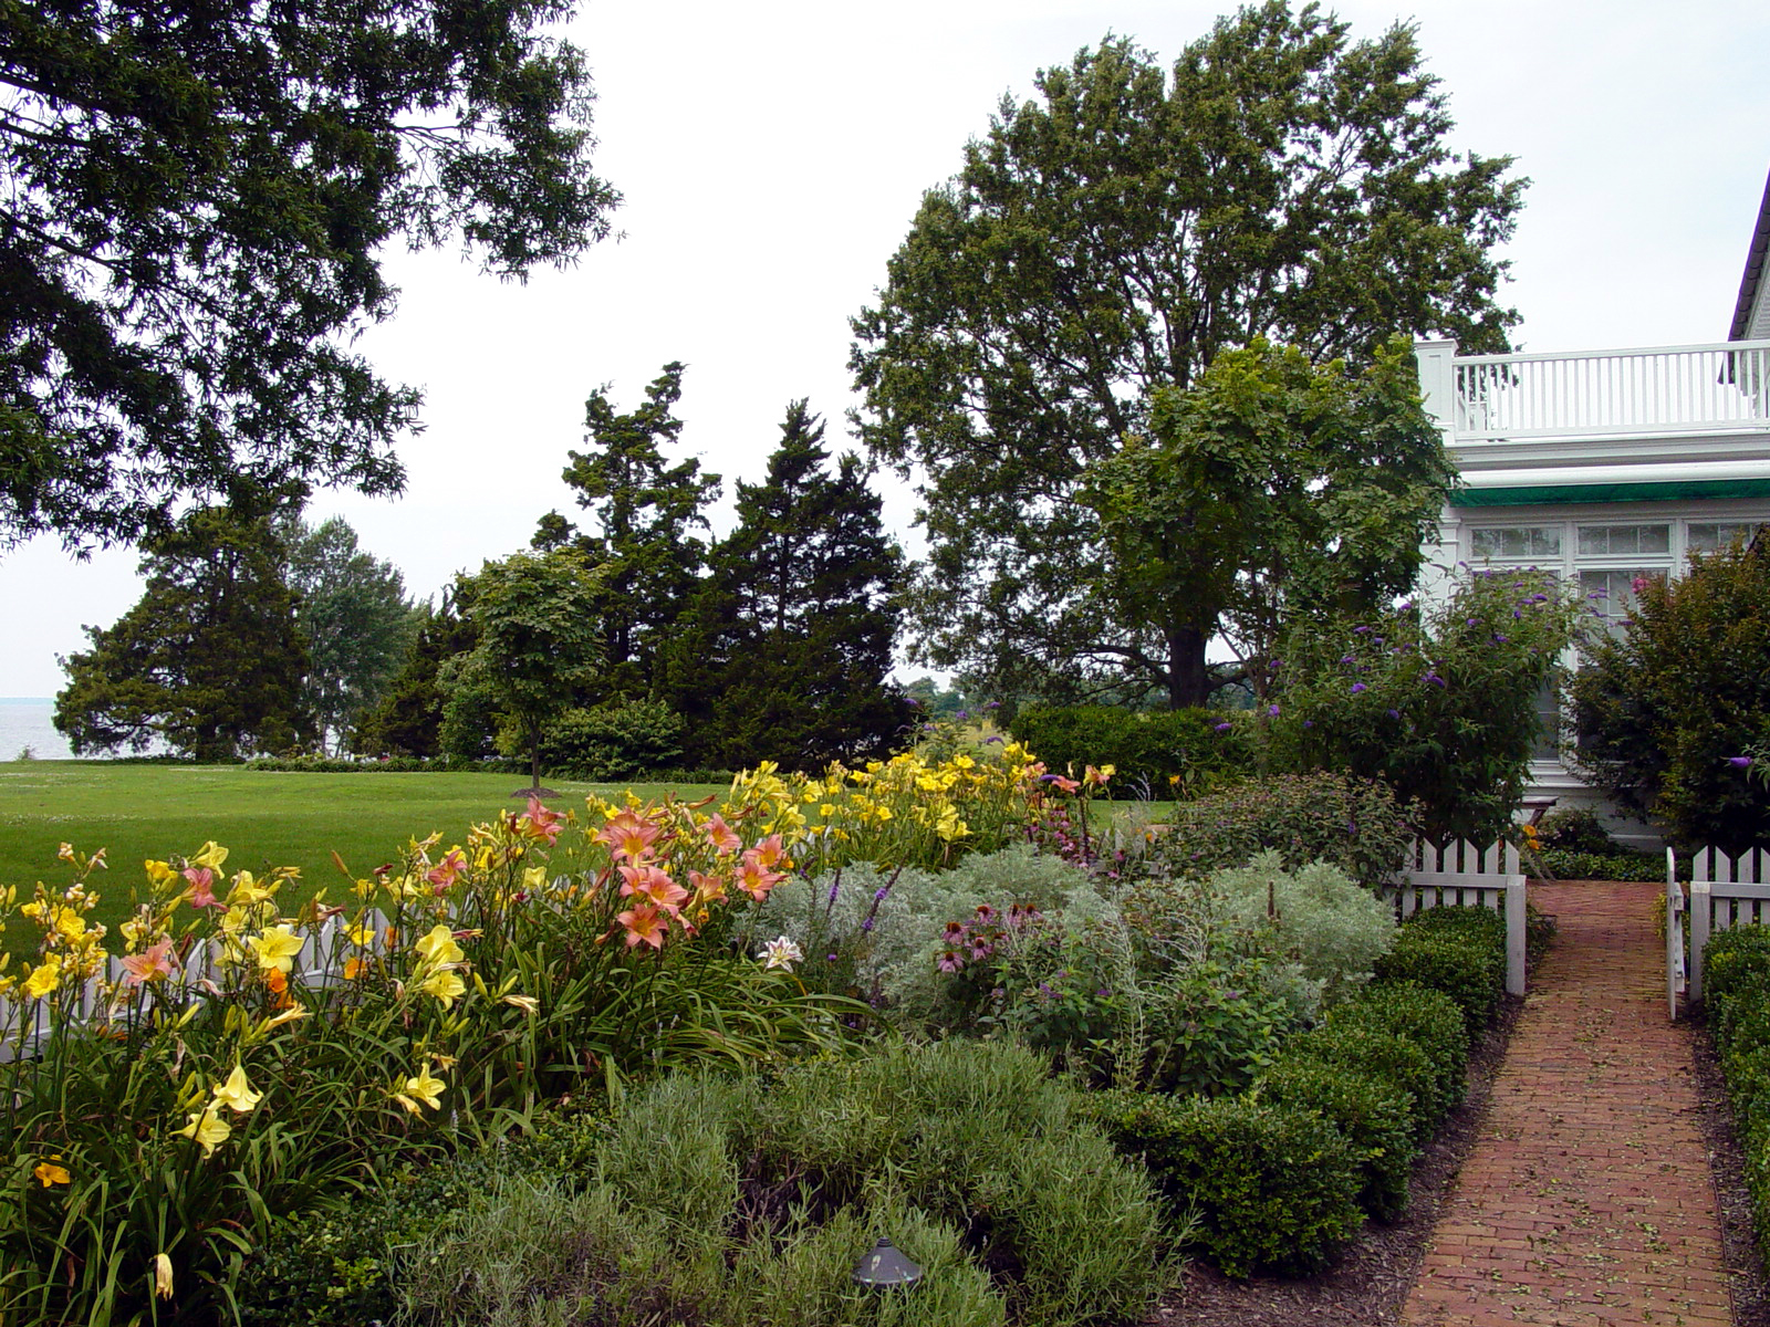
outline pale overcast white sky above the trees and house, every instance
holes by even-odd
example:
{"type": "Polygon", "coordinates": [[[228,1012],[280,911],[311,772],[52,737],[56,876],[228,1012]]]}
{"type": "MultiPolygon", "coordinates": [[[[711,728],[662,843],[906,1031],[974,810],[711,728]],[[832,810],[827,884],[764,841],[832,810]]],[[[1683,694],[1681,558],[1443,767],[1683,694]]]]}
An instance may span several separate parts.
{"type": "MultiPolygon", "coordinates": [[[[1227,0],[591,2],[566,25],[596,78],[596,172],[621,237],[499,283],[453,251],[391,253],[398,311],[359,349],[425,391],[400,499],[322,492],[432,594],[573,511],[559,471],[584,398],[632,409],[687,364],[681,451],[759,479],[800,396],[844,444],[848,318],[873,301],[924,189],[1004,94],[1113,34],[1172,60],[1227,0]]],[[[1457,120],[1451,147],[1531,179],[1501,297],[1526,350],[1719,341],[1770,168],[1763,0],[1420,0],[1331,5],[1352,35],[1412,21],[1457,120]]],[[[881,476],[915,548],[913,495],[881,476]]],[[[0,697],[48,697],[57,662],[140,596],[136,554],[0,556],[0,697]]],[[[912,669],[910,676],[917,671],[912,669]]]]}

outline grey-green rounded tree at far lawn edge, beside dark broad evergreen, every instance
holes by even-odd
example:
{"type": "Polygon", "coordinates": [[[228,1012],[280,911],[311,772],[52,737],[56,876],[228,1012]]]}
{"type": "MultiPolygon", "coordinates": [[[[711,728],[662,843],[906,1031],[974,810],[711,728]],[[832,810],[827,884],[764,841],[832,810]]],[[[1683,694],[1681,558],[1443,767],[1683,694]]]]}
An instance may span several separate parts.
{"type": "Polygon", "coordinates": [[[381,701],[400,669],[418,617],[400,570],[365,552],[342,517],[319,525],[294,520],[285,536],[289,587],[299,596],[296,626],[308,646],[303,702],[320,741],[342,745],[350,722],[381,701]]]}

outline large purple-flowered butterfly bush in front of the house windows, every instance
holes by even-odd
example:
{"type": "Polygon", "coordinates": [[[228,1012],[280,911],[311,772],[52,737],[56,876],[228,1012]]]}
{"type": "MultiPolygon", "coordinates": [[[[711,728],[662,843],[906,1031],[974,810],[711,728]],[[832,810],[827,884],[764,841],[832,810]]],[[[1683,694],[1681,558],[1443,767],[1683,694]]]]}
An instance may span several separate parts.
{"type": "Polygon", "coordinates": [[[1428,839],[1492,842],[1545,738],[1543,687],[1584,609],[1545,571],[1473,571],[1450,598],[1294,632],[1280,669],[1274,756],[1381,779],[1428,839]]]}

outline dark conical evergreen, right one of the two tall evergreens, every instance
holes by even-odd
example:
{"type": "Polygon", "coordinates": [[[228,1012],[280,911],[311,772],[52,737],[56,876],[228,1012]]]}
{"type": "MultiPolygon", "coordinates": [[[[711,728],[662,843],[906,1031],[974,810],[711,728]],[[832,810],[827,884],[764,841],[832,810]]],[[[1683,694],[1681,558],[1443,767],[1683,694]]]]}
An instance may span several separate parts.
{"type": "Polygon", "coordinates": [[[821,768],[890,747],[913,713],[887,679],[901,556],[855,455],[827,471],[823,423],[788,407],[759,485],[671,651],[690,761],[821,768]]]}

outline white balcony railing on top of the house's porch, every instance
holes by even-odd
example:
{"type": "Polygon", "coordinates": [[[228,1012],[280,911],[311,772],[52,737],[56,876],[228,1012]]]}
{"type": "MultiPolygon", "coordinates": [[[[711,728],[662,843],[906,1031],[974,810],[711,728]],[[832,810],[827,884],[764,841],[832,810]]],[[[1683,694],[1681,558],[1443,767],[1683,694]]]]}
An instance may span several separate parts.
{"type": "Polygon", "coordinates": [[[1451,364],[1458,441],[1770,430],[1770,341],[1451,364]]]}

